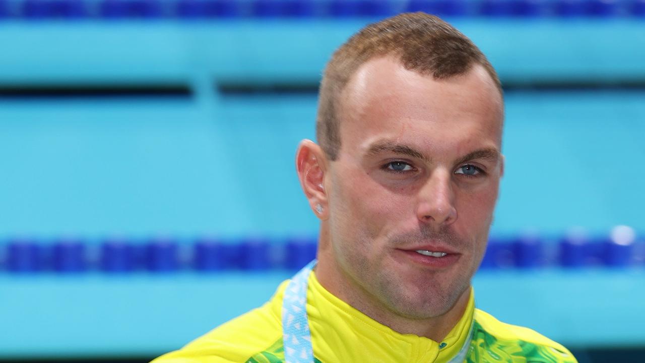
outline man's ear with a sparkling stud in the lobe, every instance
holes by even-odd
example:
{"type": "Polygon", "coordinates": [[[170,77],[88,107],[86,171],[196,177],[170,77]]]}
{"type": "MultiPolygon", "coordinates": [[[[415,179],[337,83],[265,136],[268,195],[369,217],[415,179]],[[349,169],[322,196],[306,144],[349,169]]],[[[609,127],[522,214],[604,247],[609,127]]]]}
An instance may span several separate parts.
{"type": "Polygon", "coordinates": [[[329,218],[328,199],[324,188],[327,157],[323,149],[312,140],[301,141],[295,154],[295,170],[313,214],[321,220],[326,220],[329,218]]]}

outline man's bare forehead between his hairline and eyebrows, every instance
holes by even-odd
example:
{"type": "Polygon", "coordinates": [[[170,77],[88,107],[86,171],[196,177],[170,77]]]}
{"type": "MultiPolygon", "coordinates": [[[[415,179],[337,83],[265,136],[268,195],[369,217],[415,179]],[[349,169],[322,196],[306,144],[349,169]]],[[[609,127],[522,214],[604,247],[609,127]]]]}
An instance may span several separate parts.
{"type": "Polygon", "coordinates": [[[364,63],[339,96],[341,153],[366,140],[404,136],[501,145],[502,97],[479,65],[433,79],[380,57],[364,63]]]}

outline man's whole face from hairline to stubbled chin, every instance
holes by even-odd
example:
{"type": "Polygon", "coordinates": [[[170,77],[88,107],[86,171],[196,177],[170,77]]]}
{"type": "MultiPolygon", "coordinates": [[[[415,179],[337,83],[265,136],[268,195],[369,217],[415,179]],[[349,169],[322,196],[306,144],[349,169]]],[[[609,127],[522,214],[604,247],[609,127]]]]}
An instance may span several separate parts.
{"type": "Polygon", "coordinates": [[[381,57],[340,99],[342,146],[325,176],[333,260],[393,313],[443,315],[486,248],[503,169],[501,95],[479,65],[435,80],[381,57]]]}

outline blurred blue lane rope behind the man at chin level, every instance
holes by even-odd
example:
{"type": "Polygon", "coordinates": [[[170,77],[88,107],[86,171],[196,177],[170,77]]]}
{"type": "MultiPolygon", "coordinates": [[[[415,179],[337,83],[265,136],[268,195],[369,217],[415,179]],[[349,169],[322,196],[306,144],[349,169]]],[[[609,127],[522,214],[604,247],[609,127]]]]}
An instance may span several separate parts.
{"type": "MultiPolygon", "coordinates": [[[[533,234],[491,238],[482,269],[645,265],[645,240],[639,240],[633,233],[626,235],[629,231],[628,227],[617,227],[608,236],[588,238],[568,234],[555,240],[533,234]]],[[[79,239],[49,243],[14,239],[6,242],[3,249],[5,258],[4,263],[0,260],[0,267],[10,273],[266,271],[299,269],[315,258],[316,240],[111,238],[95,244],[79,239]]]]}

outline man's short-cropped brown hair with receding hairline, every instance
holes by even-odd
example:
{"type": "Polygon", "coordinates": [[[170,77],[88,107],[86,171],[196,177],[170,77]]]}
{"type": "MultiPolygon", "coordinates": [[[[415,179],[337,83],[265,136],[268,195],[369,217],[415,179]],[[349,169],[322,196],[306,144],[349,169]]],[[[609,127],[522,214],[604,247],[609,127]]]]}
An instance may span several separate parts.
{"type": "Polygon", "coordinates": [[[468,37],[439,17],[423,12],[399,14],[370,24],[338,48],[327,63],[319,90],[316,138],[330,160],[341,148],[338,95],[363,63],[393,55],[408,70],[435,79],[459,76],[479,64],[501,92],[495,69],[468,37]]]}

